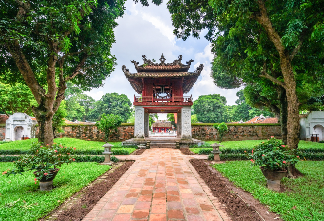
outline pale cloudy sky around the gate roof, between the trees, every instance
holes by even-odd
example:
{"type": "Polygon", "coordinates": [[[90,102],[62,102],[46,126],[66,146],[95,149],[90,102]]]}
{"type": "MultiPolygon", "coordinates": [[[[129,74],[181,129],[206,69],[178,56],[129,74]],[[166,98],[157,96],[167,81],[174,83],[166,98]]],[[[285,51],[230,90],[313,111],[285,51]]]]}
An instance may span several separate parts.
{"type": "MultiPolygon", "coordinates": [[[[171,63],[182,55],[182,63],[193,59],[189,72],[193,72],[200,64],[204,65],[200,77],[193,88],[185,96],[193,95],[196,100],[200,95],[221,94],[226,97],[227,104],[235,104],[236,92],[239,89],[225,90],[215,86],[210,78],[210,68],[213,55],[208,42],[201,33],[200,39],[193,37],[186,41],[177,39],[173,34],[171,15],[166,8],[166,2],[156,6],[150,2],[148,7],[135,4],[132,0],[125,3],[125,14],[117,20],[115,29],[116,42],[112,46],[112,55],[117,58],[115,71],[104,81],[104,86],[86,92],[95,100],[99,100],[106,93],[116,92],[126,94],[133,102],[135,91],[126,79],[122,66],[125,65],[131,73],[136,73],[134,64],[130,60],[143,64],[142,55],[147,59],[159,61],[162,53],[166,63],[171,63]]],[[[136,94],[137,96],[137,94],[136,94]]],[[[159,114],[159,120],[166,119],[166,114],[159,114]]]]}

